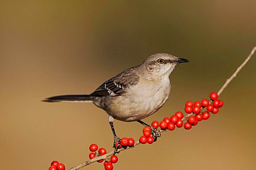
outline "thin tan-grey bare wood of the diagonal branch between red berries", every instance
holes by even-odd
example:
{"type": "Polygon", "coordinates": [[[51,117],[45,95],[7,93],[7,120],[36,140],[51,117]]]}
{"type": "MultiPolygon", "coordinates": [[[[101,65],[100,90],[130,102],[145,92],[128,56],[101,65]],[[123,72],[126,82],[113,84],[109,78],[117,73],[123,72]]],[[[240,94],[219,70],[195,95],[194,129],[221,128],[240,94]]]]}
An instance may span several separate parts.
{"type": "MultiPolygon", "coordinates": [[[[237,73],[238,73],[239,71],[241,71],[241,69],[242,69],[242,68],[245,66],[245,64],[250,60],[250,58],[251,58],[252,55],[255,53],[255,51],[256,51],[256,46],[253,47],[251,53],[247,56],[247,58],[245,59],[245,61],[237,68],[237,70],[231,75],[231,77],[228,78],[227,81],[223,84],[223,86],[222,86],[222,87],[220,88],[220,90],[218,91],[218,95],[220,95],[220,94],[222,93],[222,91],[225,90],[225,88],[228,86],[228,84],[236,77],[237,73]]],[[[187,114],[182,120],[187,119],[190,115],[193,115],[193,114],[187,114]]],[[[160,130],[160,131],[161,131],[161,133],[162,133],[162,132],[165,132],[166,130],[160,130]]],[[[134,147],[136,147],[137,145],[140,145],[139,140],[134,143],[134,147]]],[[[134,148],[134,147],[132,147],[132,148],[134,148]]],[[[131,149],[131,148],[129,148],[129,147],[127,147],[126,149],[121,148],[121,149],[118,149],[118,152],[121,152],[121,151],[124,151],[124,150],[127,150],[127,149],[131,149]]],[[[83,162],[83,163],[81,163],[81,164],[79,164],[79,165],[77,165],[77,166],[74,166],[74,167],[69,168],[69,170],[77,170],[77,169],[80,169],[80,168],[85,167],[85,166],[87,166],[87,165],[90,165],[90,164],[92,164],[92,163],[94,163],[94,162],[97,162],[97,160],[107,159],[107,158],[108,158],[109,156],[111,156],[111,155],[114,155],[114,150],[108,152],[108,153],[105,154],[105,155],[97,156],[97,157],[95,157],[95,158],[93,158],[93,159],[89,159],[89,160],[87,160],[87,161],[85,161],[85,162],[83,162]]]]}

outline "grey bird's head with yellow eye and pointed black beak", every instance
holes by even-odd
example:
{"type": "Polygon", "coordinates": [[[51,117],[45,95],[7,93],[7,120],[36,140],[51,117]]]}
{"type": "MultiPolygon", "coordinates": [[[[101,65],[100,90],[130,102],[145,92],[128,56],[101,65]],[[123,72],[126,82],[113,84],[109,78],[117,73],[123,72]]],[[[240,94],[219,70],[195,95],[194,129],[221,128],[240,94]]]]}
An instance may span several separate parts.
{"type": "Polygon", "coordinates": [[[179,63],[189,62],[185,58],[178,58],[167,53],[156,53],[148,56],[142,65],[151,75],[170,75],[179,63]]]}

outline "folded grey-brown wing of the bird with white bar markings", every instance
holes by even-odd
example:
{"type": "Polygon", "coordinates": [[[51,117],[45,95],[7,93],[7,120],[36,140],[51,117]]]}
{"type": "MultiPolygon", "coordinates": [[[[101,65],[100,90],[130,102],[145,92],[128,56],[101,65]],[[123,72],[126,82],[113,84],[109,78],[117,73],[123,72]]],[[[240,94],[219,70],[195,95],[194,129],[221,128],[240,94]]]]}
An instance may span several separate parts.
{"type": "Polygon", "coordinates": [[[139,77],[134,72],[134,69],[128,69],[116,75],[101,84],[91,96],[120,96],[126,92],[127,89],[139,82],[139,77]]]}

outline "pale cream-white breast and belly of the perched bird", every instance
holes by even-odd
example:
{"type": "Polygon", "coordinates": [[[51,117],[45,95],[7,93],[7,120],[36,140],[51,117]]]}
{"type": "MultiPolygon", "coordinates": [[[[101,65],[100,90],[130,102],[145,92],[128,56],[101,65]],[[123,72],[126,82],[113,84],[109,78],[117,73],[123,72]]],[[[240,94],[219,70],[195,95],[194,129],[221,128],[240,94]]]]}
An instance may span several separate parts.
{"type": "Polygon", "coordinates": [[[158,111],[171,92],[169,77],[161,81],[140,81],[125,94],[113,97],[108,114],[121,121],[137,121],[158,111]]]}

